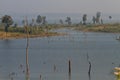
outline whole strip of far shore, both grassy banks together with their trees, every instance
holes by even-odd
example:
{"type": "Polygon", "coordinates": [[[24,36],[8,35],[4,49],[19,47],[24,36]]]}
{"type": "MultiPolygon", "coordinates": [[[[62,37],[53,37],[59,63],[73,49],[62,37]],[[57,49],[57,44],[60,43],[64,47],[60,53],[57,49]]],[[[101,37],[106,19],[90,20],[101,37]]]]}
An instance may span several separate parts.
{"type": "MultiPolygon", "coordinates": [[[[110,20],[112,16],[108,17],[110,20]]],[[[120,33],[119,23],[104,23],[101,17],[101,12],[97,12],[96,16],[91,19],[92,23],[87,22],[87,14],[83,14],[80,23],[72,23],[71,17],[66,17],[66,20],[59,20],[59,24],[48,24],[46,16],[38,15],[36,19],[32,19],[28,24],[27,17],[22,21],[23,27],[19,27],[14,23],[9,15],[4,15],[0,18],[0,39],[10,38],[25,38],[26,31],[29,32],[29,37],[45,37],[45,36],[58,36],[64,35],[61,33],[53,32],[53,29],[69,28],[85,32],[109,32],[120,33]]]]}

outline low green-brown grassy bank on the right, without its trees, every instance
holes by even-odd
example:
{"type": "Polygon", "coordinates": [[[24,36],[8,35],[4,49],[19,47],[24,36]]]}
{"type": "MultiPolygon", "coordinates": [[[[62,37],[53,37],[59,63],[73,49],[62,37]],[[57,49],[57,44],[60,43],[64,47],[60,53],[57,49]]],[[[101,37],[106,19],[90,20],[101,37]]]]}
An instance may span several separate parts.
{"type": "Polygon", "coordinates": [[[74,28],[84,32],[107,32],[107,33],[120,33],[120,24],[101,24],[101,25],[81,25],[74,28]]]}

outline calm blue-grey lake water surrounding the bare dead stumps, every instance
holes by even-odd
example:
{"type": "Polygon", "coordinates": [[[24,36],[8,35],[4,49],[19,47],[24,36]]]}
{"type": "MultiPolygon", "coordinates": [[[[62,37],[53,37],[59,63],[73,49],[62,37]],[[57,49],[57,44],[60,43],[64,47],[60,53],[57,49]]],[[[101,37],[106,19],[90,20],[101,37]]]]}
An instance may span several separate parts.
{"type": "MultiPolygon", "coordinates": [[[[91,80],[114,79],[112,70],[120,65],[120,42],[114,34],[62,31],[69,34],[30,39],[31,80],[89,80],[87,54],[92,66],[91,80]]],[[[0,40],[1,80],[25,80],[25,47],[25,39],[0,40]]]]}

